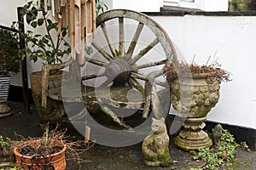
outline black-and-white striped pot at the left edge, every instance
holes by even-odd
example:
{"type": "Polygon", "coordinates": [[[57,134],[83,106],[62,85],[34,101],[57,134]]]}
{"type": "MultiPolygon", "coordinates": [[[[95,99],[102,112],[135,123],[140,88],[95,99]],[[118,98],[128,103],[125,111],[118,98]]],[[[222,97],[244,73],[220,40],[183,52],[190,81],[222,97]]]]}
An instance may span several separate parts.
{"type": "Polygon", "coordinates": [[[0,98],[8,99],[10,75],[0,75],[0,98]]]}

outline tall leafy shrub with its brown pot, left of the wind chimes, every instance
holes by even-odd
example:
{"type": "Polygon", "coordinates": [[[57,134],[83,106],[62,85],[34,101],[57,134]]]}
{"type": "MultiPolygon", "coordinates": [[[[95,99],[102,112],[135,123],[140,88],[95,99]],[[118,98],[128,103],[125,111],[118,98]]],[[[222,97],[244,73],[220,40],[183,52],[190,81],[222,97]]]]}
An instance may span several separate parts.
{"type": "MultiPolygon", "coordinates": [[[[59,66],[57,65],[62,64],[63,57],[70,54],[71,48],[66,40],[67,27],[61,27],[60,30],[60,28],[58,28],[58,22],[50,19],[50,13],[44,11],[44,2],[42,3],[41,8],[38,8],[38,5],[28,2],[21,7],[20,14],[26,19],[25,22],[28,26],[34,29],[40,28],[45,31],[45,34],[35,34],[32,31],[26,31],[25,33],[20,32],[20,36],[25,38],[26,53],[29,55],[29,59],[34,62],[37,62],[39,59],[43,61],[42,69],[44,71],[32,72],[30,78],[32,96],[38,115],[42,122],[48,122],[58,120],[64,112],[60,112],[59,110],[61,103],[51,99],[47,100],[47,107],[41,107],[42,86],[44,88],[45,84],[48,84],[48,82],[61,81],[63,72],[58,69],[59,66]],[[45,76],[45,73],[43,73],[45,72],[44,68],[49,68],[49,65],[51,65],[52,68],[56,65],[56,69],[51,69],[49,75],[45,76]]],[[[13,24],[15,26],[18,22],[15,21],[13,24]]],[[[24,54],[23,51],[20,52],[24,54]]]]}

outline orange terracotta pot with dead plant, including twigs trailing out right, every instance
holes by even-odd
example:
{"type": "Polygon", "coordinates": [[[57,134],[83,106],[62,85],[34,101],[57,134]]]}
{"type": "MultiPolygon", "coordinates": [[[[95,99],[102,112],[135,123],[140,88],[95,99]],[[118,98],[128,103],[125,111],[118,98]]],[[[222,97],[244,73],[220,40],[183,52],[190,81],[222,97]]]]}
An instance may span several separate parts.
{"type": "Polygon", "coordinates": [[[15,142],[13,148],[16,163],[25,170],[64,170],[67,167],[66,155],[80,163],[79,154],[90,149],[93,144],[84,145],[84,141],[70,140],[66,131],[67,129],[59,129],[59,126],[49,131],[48,125],[41,138],[15,142]]]}

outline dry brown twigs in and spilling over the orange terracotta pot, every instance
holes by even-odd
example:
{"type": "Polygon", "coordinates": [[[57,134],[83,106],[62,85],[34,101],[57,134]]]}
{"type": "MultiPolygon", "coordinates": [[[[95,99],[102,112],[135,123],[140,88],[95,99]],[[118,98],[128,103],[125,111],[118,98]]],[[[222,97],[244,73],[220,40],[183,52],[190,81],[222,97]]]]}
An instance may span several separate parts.
{"type": "MultiPolygon", "coordinates": [[[[94,142],[84,144],[84,140],[74,141],[70,136],[66,135],[67,129],[60,129],[59,125],[55,129],[49,131],[49,124],[45,127],[44,135],[41,138],[27,138],[25,139],[19,134],[15,134],[16,137],[21,137],[20,141],[13,144],[12,148],[19,148],[20,153],[22,150],[26,150],[27,156],[39,155],[47,156],[55,153],[55,151],[61,150],[62,144],[67,146],[67,159],[76,161],[79,164],[86,160],[82,160],[80,155],[86,150],[89,150],[94,146],[94,142]],[[54,150],[53,150],[54,149],[54,150]],[[48,153],[48,151],[51,153],[48,153]]],[[[25,153],[24,153],[25,154],[25,153]]]]}

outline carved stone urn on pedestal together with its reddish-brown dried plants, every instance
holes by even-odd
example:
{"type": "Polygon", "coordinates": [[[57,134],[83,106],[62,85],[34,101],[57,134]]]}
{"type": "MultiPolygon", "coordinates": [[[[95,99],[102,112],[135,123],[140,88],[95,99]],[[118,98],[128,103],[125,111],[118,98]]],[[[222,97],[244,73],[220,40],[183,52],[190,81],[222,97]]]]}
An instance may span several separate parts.
{"type": "Polygon", "coordinates": [[[202,129],[206,126],[207,113],[218,102],[219,84],[230,81],[230,73],[220,66],[216,61],[211,65],[173,63],[165,66],[173,108],[178,116],[185,118],[184,128],[174,140],[178,148],[198,150],[212,146],[212,140],[202,129]]]}

